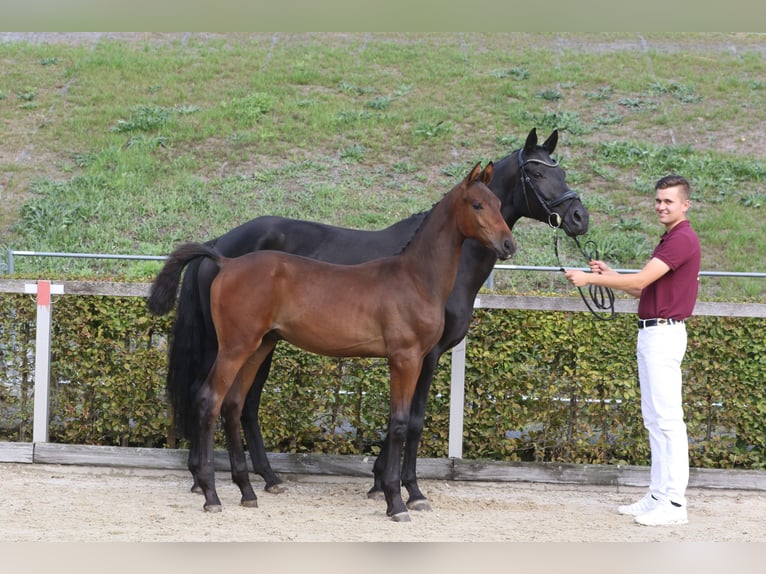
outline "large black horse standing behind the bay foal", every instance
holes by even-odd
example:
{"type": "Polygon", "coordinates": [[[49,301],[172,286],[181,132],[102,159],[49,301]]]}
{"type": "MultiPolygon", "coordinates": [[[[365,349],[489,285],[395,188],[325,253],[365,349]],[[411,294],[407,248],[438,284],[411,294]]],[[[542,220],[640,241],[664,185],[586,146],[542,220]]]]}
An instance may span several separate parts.
{"type": "MultiPolygon", "coordinates": [[[[490,189],[500,198],[503,218],[512,229],[521,217],[529,217],[561,227],[567,235],[582,235],[588,230],[588,211],[578,195],[569,189],[565,172],[551,158],[558,142],[554,130],[538,145],[533,128],[524,147],[494,164],[490,189]]],[[[251,251],[273,249],[303,255],[321,261],[356,264],[394,255],[402,251],[418,228],[425,213],[408,217],[380,231],[363,231],[333,227],[321,223],[258,217],[210,240],[226,257],[238,257],[251,251]]],[[[430,505],[418,488],[416,476],[417,449],[423,433],[426,402],[439,358],[457,345],[468,332],[476,294],[497,261],[495,253],[476,241],[465,242],[457,279],[447,301],[444,332],[437,345],[426,355],[412,402],[410,423],[401,467],[401,482],[407,489],[407,507],[428,510],[430,505]]],[[[218,349],[210,316],[210,284],[218,268],[197,259],[186,267],[180,292],[178,285],[183,266],[168,260],[151,287],[148,307],[151,313],[168,313],[176,301],[178,309],[171,332],[167,392],[170,397],[177,432],[189,439],[190,448],[199,448],[194,397],[212,368],[218,349]]],[[[269,464],[258,422],[261,392],[271,367],[272,354],[264,361],[248,393],[242,412],[242,426],[253,470],[263,477],[266,490],[281,492],[282,480],[269,464]]],[[[383,443],[388,444],[388,441],[383,443]]],[[[373,465],[374,484],[368,496],[383,496],[382,477],[386,467],[384,447],[373,465]]],[[[192,490],[199,491],[194,471],[192,490]]]]}

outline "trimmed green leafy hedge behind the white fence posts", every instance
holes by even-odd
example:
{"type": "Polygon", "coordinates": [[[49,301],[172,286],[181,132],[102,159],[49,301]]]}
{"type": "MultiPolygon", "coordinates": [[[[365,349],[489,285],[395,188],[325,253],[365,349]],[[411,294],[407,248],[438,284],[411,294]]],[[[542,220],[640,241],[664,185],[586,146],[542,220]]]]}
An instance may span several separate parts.
{"type": "MultiPolygon", "coordinates": [[[[466,349],[463,456],[648,464],[635,317],[479,309],[466,349]]],[[[63,296],[53,310],[52,442],[185,447],[164,391],[173,316],[136,297],[63,296]]],[[[691,464],[766,468],[766,320],[694,317],[684,361],[691,464]]],[[[0,440],[29,441],[35,301],[0,297],[0,440]]],[[[419,454],[446,457],[449,354],[429,397],[419,454]]],[[[264,392],[269,451],[376,454],[388,416],[382,359],[337,359],[281,344],[264,392]]],[[[217,435],[223,446],[222,434],[217,435]]]]}

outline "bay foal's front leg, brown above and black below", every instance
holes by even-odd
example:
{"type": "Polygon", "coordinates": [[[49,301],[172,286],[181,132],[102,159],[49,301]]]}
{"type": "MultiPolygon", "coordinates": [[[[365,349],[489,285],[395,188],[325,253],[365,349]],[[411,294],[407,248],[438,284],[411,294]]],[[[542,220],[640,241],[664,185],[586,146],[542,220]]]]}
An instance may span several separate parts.
{"type": "Polygon", "coordinates": [[[383,477],[386,514],[396,522],[409,522],[410,515],[402,500],[401,457],[407,435],[412,396],[415,392],[420,360],[411,353],[389,358],[391,370],[391,412],[388,420],[388,456],[383,477]]]}

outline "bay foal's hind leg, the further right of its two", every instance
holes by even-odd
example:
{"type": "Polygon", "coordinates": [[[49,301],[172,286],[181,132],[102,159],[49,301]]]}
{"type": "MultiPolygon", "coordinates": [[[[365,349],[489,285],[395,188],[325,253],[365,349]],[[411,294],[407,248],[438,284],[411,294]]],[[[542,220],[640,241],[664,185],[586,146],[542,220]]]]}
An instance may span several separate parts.
{"type": "Polygon", "coordinates": [[[258,350],[242,365],[234,384],[226,394],[221,413],[224,418],[224,428],[228,439],[229,463],[231,465],[231,479],[239,487],[242,493],[242,506],[256,508],[258,497],[253,491],[248,475],[245,449],[242,445],[240,418],[245,397],[252,384],[253,377],[263,363],[263,360],[271,354],[276,343],[264,341],[258,350]]]}

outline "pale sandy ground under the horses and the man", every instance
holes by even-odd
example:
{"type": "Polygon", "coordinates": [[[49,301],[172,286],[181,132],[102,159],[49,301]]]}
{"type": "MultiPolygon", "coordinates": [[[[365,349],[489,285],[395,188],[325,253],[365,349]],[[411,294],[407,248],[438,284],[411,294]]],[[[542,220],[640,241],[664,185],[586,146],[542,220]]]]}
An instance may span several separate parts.
{"type": "Polygon", "coordinates": [[[422,481],[432,512],[409,523],[369,500],[370,480],[285,475],[288,490],[239,505],[228,474],[223,512],[205,513],[186,471],[0,464],[6,542],[755,542],[766,541],[766,493],[691,489],[689,524],[643,527],[618,515],[635,487],[422,481]]]}

